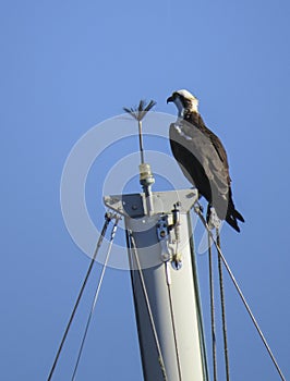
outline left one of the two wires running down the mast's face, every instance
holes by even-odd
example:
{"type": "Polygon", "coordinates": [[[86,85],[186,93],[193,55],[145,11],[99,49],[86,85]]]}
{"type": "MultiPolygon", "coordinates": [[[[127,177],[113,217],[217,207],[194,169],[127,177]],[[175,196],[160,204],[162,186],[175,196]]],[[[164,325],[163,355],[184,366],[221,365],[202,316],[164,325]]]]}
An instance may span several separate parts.
{"type": "Polygon", "coordinates": [[[133,249],[134,259],[135,259],[136,265],[137,265],[137,271],[140,273],[142,290],[143,290],[143,294],[144,294],[144,297],[145,297],[147,311],[148,311],[148,315],[149,315],[149,320],[150,320],[150,325],[152,325],[152,330],[153,330],[153,335],[154,335],[156,348],[157,348],[157,352],[158,352],[158,361],[159,361],[159,365],[160,365],[160,369],[161,369],[161,372],[162,372],[164,380],[168,381],[167,373],[166,373],[165,361],[164,361],[164,356],[162,356],[160,343],[159,343],[159,340],[158,340],[158,334],[157,334],[157,330],[156,330],[156,327],[155,327],[154,317],[153,317],[153,314],[152,314],[149,297],[148,297],[148,294],[147,294],[143,271],[142,271],[141,263],[140,263],[140,260],[138,260],[138,256],[137,256],[137,253],[136,253],[137,251],[136,243],[135,243],[135,239],[134,239],[134,237],[132,235],[132,232],[128,232],[128,234],[129,234],[129,238],[130,238],[130,246],[133,249]]]}

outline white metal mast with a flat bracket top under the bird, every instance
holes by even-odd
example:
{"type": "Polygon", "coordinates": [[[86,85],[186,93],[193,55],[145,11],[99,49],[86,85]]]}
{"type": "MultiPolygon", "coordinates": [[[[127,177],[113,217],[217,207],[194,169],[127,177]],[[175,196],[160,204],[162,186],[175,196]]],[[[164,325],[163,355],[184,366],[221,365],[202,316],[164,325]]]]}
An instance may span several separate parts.
{"type": "Polygon", "coordinates": [[[107,207],[125,217],[144,379],[204,381],[206,356],[189,214],[197,193],[153,193],[152,198],[152,216],[144,194],[105,198],[107,207]]]}

